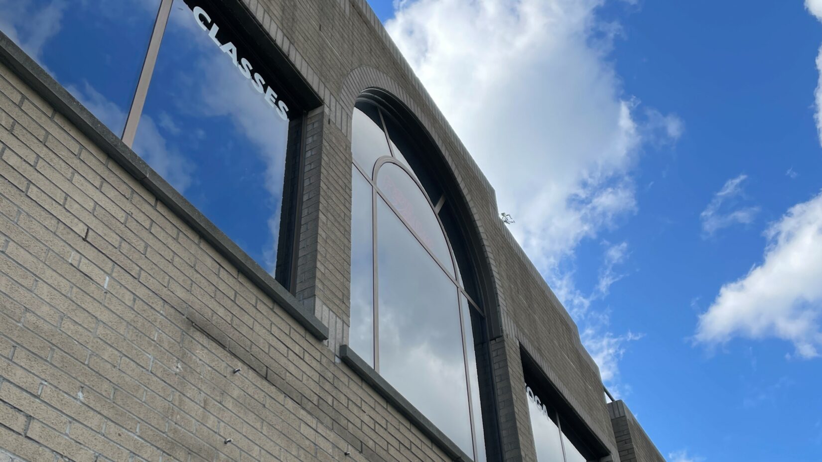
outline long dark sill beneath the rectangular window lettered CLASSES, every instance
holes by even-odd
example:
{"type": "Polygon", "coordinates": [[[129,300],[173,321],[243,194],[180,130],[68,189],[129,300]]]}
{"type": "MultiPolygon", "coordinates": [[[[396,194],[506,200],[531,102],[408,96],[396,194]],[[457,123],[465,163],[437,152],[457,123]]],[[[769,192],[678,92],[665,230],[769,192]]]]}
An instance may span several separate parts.
{"type": "Polygon", "coordinates": [[[0,32],[0,62],[16,73],[32,90],[51,104],[54,109],[72,122],[80,132],[88,136],[100,150],[109,155],[132,177],[177,214],[215,247],[229,262],[238,268],[252,283],[256,284],[275,303],[296,319],[317,340],[328,339],[328,327],[314,316],[309,307],[300,303],[256,261],[243,252],[237,244],[192,206],[169,182],[166,182],[145,160],[136,155],[115,135],[109,127],[100,122],[94,114],[80,104],[62,85],[45,72],[33,59],[20,49],[12,39],[0,32]]]}

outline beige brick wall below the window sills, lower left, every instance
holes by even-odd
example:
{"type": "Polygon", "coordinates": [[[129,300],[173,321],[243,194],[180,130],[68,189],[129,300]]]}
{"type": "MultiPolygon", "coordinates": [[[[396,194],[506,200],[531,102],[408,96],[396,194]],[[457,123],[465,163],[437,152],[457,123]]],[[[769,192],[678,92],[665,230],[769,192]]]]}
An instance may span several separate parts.
{"type": "Polygon", "coordinates": [[[0,460],[445,460],[2,65],[0,124],[0,460]]]}

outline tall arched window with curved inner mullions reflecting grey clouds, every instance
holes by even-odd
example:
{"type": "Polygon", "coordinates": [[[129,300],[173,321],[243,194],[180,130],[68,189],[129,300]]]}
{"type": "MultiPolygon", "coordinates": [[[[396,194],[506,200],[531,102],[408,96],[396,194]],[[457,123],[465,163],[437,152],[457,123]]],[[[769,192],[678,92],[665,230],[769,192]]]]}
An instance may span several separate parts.
{"type": "Polygon", "coordinates": [[[473,268],[453,205],[424,168],[430,151],[388,108],[367,98],[353,113],[349,345],[484,462],[477,352],[486,335],[473,268]]]}

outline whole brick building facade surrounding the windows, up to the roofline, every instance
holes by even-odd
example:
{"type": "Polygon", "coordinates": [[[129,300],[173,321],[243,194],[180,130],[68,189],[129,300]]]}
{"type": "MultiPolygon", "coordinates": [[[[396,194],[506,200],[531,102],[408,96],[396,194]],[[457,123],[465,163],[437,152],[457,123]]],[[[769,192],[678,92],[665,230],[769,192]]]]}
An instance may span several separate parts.
{"type": "Polygon", "coordinates": [[[0,35],[0,460],[473,460],[349,345],[353,118],[369,91],[426,136],[463,224],[486,320],[484,457],[538,460],[538,396],[569,428],[569,460],[569,441],[586,460],[664,460],[603,397],[574,322],[366,0],[204,4],[288,95],[276,271],[0,35]]]}

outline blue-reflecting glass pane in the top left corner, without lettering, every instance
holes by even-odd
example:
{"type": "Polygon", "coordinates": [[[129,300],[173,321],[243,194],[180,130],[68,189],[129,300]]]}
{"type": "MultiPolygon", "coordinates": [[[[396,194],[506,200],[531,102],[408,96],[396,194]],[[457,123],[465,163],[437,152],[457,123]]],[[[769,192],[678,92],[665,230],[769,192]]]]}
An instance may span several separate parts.
{"type": "Polygon", "coordinates": [[[122,135],[159,0],[0,0],[0,30],[122,135]]]}

